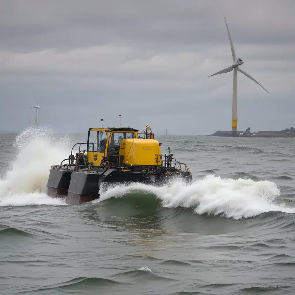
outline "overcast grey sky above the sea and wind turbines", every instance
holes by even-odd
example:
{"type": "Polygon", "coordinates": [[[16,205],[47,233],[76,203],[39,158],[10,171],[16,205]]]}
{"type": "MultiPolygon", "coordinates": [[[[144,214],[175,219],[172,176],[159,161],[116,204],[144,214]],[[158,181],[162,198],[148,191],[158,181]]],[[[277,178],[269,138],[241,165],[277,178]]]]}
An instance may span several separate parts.
{"type": "Polygon", "coordinates": [[[119,124],[158,134],[295,126],[295,1],[0,1],[0,130],[119,124]]]}

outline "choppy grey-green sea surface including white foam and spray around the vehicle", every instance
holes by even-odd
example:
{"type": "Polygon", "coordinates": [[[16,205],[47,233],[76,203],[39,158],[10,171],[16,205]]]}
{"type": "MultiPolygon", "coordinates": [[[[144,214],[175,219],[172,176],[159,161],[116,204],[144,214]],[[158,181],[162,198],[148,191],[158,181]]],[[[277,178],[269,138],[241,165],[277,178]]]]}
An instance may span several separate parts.
{"type": "Polygon", "coordinates": [[[295,294],[294,139],[155,139],[192,185],[66,205],[46,169],[86,134],[0,134],[0,294],[295,294]]]}

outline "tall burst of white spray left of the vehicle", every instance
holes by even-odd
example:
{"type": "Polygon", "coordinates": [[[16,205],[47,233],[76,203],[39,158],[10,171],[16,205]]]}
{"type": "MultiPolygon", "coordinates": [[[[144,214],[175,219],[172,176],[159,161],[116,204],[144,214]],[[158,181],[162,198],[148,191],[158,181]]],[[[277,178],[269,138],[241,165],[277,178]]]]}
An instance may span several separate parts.
{"type": "Polygon", "coordinates": [[[71,144],[68,137],[57,138],[49,128],[31,127],[20,133],[14,142],[17,155],[11,154],[12,165],[0,181],[0,206],[60,204],[42,194],[47,189],[46,169],[68,158],[71,144]]]}

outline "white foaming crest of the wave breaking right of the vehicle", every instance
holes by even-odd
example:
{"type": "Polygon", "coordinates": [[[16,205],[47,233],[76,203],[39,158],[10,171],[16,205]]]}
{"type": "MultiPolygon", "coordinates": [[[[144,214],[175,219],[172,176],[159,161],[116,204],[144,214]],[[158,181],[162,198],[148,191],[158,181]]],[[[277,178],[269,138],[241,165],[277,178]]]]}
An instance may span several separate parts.
{"type": "Polygon", "coordinates": [[[122,197],[134,191],[154,194],[161,200],[163,207],[192,208],[197,214],[222,214],[240,219],[270,211],[295,213],[295,208],[274,204],[280,191],[273,182],[222,179],[214,175],[208,175],[189,186],[180,182],[160,188],[141,183],[117,185],[104,189],[99,201],[114,196],[122,197]]]}

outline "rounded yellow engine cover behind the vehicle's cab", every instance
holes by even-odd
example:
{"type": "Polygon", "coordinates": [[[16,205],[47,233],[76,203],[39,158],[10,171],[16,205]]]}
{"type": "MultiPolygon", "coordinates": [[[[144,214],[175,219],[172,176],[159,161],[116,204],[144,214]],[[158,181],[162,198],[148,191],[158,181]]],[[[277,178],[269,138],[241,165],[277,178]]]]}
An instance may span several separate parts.
{"type": "Polygon", "coordinates": [[[160,145],[154,139],[123,139],[119,155],[125,165],[162,165],[160,145]]]}

